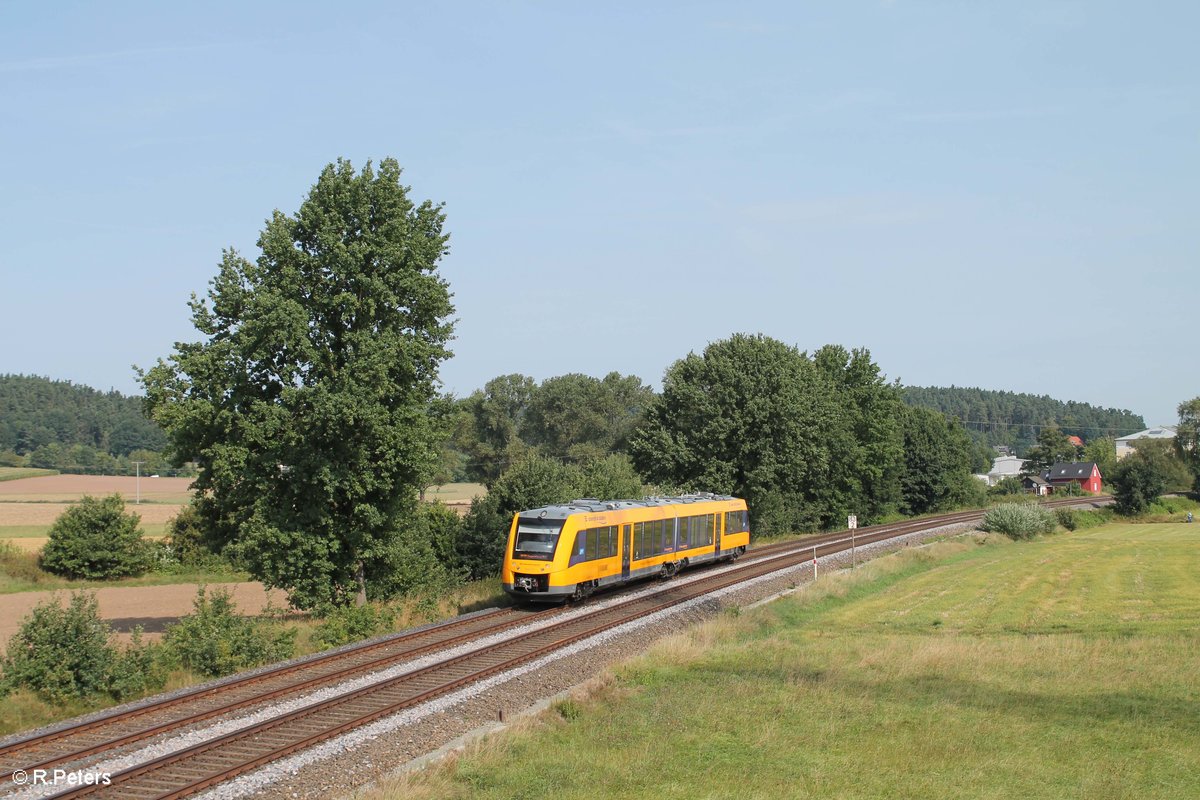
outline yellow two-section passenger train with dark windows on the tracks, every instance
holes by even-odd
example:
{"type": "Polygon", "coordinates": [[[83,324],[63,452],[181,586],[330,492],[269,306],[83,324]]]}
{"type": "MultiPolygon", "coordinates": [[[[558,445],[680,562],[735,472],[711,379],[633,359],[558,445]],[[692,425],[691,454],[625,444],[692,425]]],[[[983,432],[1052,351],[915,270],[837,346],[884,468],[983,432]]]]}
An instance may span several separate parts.
{"type": "Polygon", "coordinates": [[[749,543],[750,516],[738,498],[572,500],[514,515],[500,579],[527,602],[582,600],[600,588],[736,559],[749,543]]]}

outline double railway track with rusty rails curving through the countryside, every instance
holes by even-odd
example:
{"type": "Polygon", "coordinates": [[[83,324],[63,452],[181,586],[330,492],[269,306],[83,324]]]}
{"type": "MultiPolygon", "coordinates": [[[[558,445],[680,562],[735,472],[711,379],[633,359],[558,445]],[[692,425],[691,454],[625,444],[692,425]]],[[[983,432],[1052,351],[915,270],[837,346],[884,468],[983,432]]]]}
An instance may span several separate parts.
{"type": "MultiPolygon", "coordinates": [[[[1069,498],[1045,505],[1078,505],[1103,498],[1069,498]]],[[[32,774],[84,762],[205,720],[247,709],[282,697],[295,697],[320,686],[361,676],[536,619],[547,622],[491,645],[469,649],[426,667],[371,682],[343,694],[316,702],[238,730],[154,758],[112,775],[110,784],[78,786],[50,795],[121,798],[181,798],[248,772],[347,730],[448,694],[469,684],[536,661],[560,648],[619,627],[650,614],[701,599],[779,570],[794,567],[910,533],[970,523],[983,512],[959,512],[918,521],[862,528],[852,535],[836,531],[799,542],[778,542],[751,549],[732,569],[692,573],[686,583],[668,584],[652,594],[618,600],[606,608],[578,615],[559,609],[521,612],[500,609],[451,620],[420,631],[364,643],[324,654],[301,663],[284,664],[257,675],[202,687],[122,714],[106,715],[44,736],[28,738],[0,747],[0,770],[32,774]],[[563,619],[557,620],[558,616],[563,619]],[[556,621],[557,620],[557,621],[556,621]],[[10,766],[12,765],[12,766],[10,766]]],[[[0,775],[5,772],[0,771],[0,775]]]]}

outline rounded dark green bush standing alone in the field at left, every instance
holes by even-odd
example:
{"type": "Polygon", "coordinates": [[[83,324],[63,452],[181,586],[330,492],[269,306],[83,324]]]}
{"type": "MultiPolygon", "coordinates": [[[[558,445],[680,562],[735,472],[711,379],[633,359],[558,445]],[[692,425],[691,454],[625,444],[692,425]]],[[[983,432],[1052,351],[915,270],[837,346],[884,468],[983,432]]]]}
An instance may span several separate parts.
{"type": "Polygon", "coordinates": [[[125,513],[120,494],[103,499],[85,495],[54,521],[42,548],[42,569],[95,581],[142,575],[149,569],[149,552],[140,522],[138,515],[125,513]]]}

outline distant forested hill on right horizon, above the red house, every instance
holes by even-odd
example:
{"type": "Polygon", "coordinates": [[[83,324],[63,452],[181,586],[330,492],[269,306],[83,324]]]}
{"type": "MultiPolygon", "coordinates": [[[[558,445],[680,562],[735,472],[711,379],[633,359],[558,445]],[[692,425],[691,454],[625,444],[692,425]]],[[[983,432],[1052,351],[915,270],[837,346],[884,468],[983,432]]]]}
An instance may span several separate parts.
{"type": "Polygon", "coordinates": [[[1045,395],[1024,395],[962,386],[906,386],[910,405],[937,409],[958,419],[972,439],[988,446],[1007,445],[1018,455],[1033,446],[1038,433],[1055,426],[1085,443],[1136,433],[1146,427],[1141,415],[1088,403],[1062,402],[1045,395]]]}

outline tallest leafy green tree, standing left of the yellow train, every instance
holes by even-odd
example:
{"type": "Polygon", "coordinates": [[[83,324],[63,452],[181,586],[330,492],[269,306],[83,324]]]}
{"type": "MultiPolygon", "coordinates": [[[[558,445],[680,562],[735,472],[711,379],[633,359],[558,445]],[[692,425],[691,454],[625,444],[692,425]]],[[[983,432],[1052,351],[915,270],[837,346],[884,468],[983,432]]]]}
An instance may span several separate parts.
{"type": "Polygon", "coordinates": [[[390,158],[325,167],[295,215],[271,215],[257,260],[227,251],[193,296],[203,338],[140,373],[174,457],[200,465],[205,524],[299,607],[386,585],[437,461],[448,235],[400,178],[390,158]]]}

